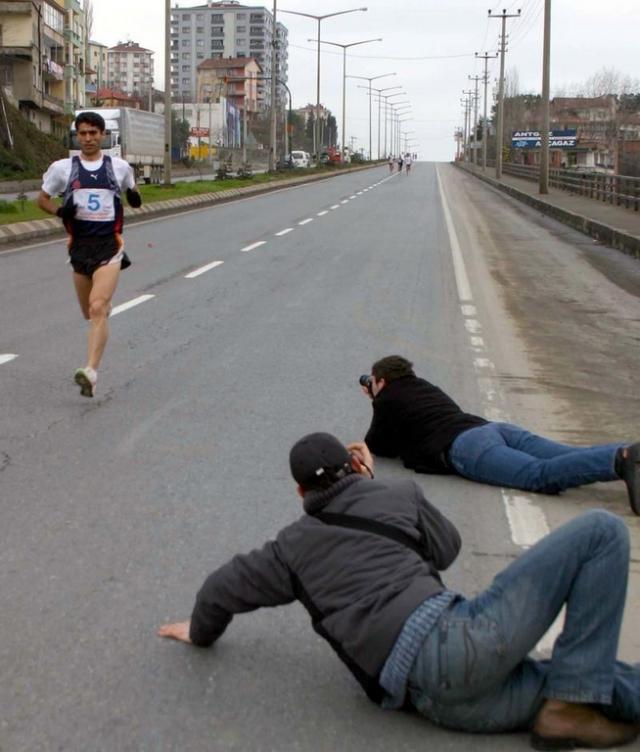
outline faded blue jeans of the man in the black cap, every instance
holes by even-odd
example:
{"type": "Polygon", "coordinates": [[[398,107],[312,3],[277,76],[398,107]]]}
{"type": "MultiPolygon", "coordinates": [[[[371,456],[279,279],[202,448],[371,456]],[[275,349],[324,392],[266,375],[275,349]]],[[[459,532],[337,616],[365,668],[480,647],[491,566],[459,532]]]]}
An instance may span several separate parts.
{"type": "Polygon", "coordinates": [[[444,612],[409,676],[412,704],[470,732],[529,728],[545,698],[639,722],[640,667],[616,661],[628,569],[629,533],[615,515],[594,510],[558,528],[444,612]],[[551,660],[529,658],[563,605],[551,660]]]}

